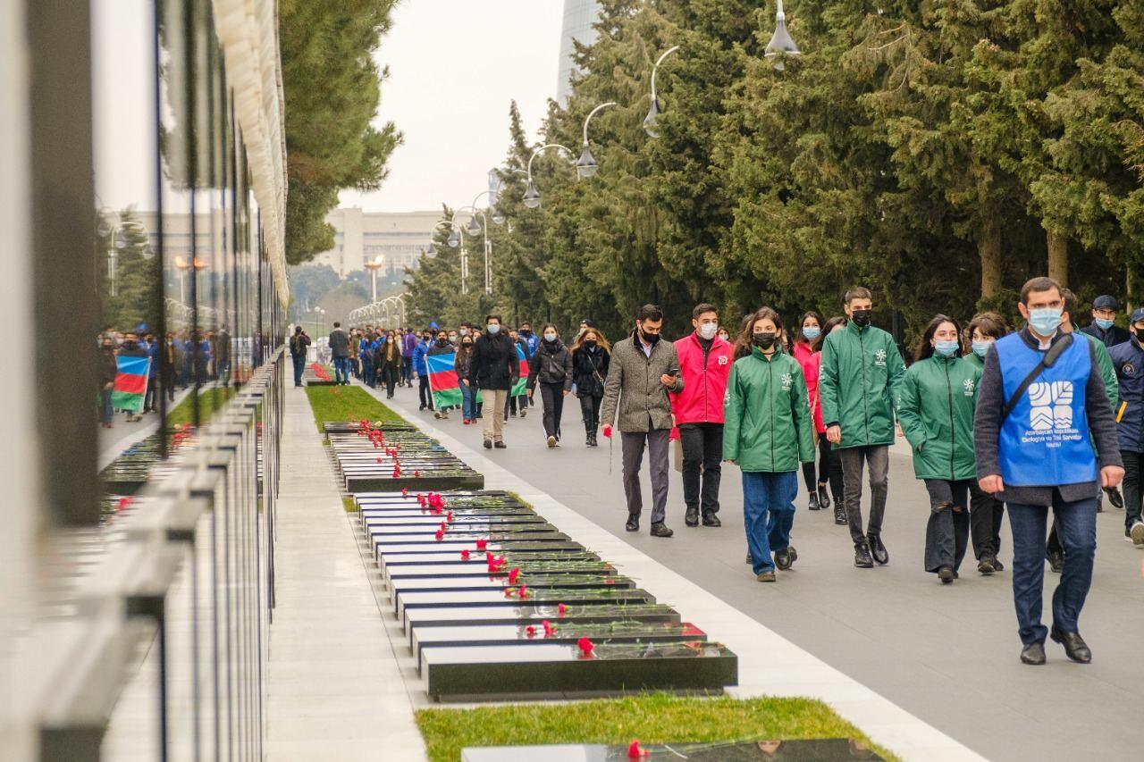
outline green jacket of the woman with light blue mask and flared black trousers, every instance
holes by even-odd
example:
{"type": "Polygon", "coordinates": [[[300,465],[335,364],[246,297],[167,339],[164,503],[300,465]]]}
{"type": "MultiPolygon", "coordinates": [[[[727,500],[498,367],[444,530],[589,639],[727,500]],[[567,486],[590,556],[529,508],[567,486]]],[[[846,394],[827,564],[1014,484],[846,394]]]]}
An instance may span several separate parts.
{"type": "Polygon", "coordinates": [[[963,357],[935,354],[906,371],[897,391],[898,422],[920,479],[972,479],[974,410],[982,370],[963,357]]]}

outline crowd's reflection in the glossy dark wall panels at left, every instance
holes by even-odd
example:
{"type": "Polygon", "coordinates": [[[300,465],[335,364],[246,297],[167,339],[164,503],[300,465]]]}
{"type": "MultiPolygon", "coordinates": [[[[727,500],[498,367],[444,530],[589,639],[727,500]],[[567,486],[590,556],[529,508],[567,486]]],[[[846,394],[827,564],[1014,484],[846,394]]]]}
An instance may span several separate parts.
{"type": "Polygon", "coordinates": [[[112,428],[114,405],[112,391],[119,375],[118,357],[146,357],[148,383],[142,410],[125,410],[125,420],[138,421],[145,413],[158,412],[159,395],[174,402],[175,391],[186,389],[192,383],[230,383],[233,340],[227,326],[217,331],[168,331],[164,341],[145,323],[133,330],[105,328],[100,334],[100,422],[103,428],[112,428]],[[160,352],[165,354],[160,362],[160,352]]]}

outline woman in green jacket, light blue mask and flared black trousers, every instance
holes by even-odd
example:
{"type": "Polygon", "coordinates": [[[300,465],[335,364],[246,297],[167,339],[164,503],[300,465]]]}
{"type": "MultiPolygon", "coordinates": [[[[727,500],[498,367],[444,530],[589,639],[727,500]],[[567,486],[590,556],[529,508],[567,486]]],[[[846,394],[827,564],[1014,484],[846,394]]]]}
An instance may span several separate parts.
{"type": "Polygon", "coordinates": [[[914,475],[930,495],[925,571],[948,585],[969,542],[969,485],[976,478],[974,408],[980,368],[961,358],[961,326],[938,315],[898,389],[898,420],[914,455],[914,475]]]}

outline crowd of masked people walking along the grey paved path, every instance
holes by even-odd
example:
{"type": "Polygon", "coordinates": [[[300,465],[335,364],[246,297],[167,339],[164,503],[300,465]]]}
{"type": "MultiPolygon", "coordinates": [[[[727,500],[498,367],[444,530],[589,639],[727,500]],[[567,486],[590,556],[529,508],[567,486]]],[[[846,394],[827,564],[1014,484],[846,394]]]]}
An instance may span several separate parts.
{"type": "Polygon", "coordinates": [[[762,307],[729,330],[714,305],[701,303],[693,331],[675,342],[661,340],[664,313],[648,304],[614,344],[587,319],[565,342],[553,324],[538,335],[529,323],[515,330],[490,315],[482,325],[421,332],[347,333],[335,324],[329,346],[339,380],[355,375],[390,397],[395,386],[416,382],[421,410],[434,410],[426,358],[451,354],[462,422],[480,421],[490,450],[507,447],[503,422],[527,413],[538,387],[545,443],[559,447],[565,398],[574,395],[586,446],[597,446],[599,434],[619,435],[628,531],[638,531],[643,516],[645,455],[650,532],[659,538],[674,534],[666,522],[673,440],[688,526],[721,525],[722,463],[734,463],[747,563],[761,582],[774,582],[799,557],[792,534],[800,477],[808,508],[833,508],[835,523],[848,527],[857,567],[889,563],[882,526],[890,446],[904,437],[929,495],[925,571],[952,584],[970,550],[979,573],[1004,571],[998,554],[1008,511],[1022,660],[1043,664],[1051,637],[1070,658],[1088,661],[1078,618],[1105,495],[1125,509],[1125,539],[1144,548],[1144,308],[1128,316],[1126,330],[1115,324],[1118,301],[1101,296],[1080,328],[1075,295],[1033,278],[1017,305],[1024,326],[1011,330],[994,312],[966,325],[936,315],[908,367],[893,338],[872,325],[873,308],[872,293],[853,287],[842,315],[824,319],[810,310],[789,327],[762,307]],[[1060,573],[1051,629],[1041,625],[1046,559],[1060,573]]]}

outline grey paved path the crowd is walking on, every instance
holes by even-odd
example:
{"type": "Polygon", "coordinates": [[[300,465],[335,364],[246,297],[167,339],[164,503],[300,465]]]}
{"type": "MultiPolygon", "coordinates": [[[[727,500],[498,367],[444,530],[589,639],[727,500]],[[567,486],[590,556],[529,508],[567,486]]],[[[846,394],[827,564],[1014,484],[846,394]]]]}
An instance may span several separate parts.
{"type": "MultiPolygon", "coordinates": [[[[908,453],[896,449],[891,455],[883,531],[889,566],[855,569],[847,529],[834,524],[832,513],[808,511],[800,494],[793,533],[799,561],[794,571],[779,572],[777,585],[763,586],[744,563],[738,469],[724,465],[722,529],[684,526],[673,469],[668,525],[675,537],[652,538],[646,526],[627,533],[619,443],[614,453],[603,438],[601,447],[585,447],[579,405],[567,402],[564,446],[545,446],[539,408],[532,408],[524,420],[510,419],[508,450],[479,452],[983,756],[1141,759],[1144,554],[1122,541],[1123,514],[1107,510],[1098,521],[1096,574],[1081,620],[1094,662],[1072,664],[1049,643],[1049,664],[1026,667],[1018,661],[1008,571],[984,578],[967,562],[961,579],[947,587],[922,571],[928,501],[908,453]]],[[[415,389],[398,389],[390,404],[480,447],[479,426],[462,426],[456,414],[436,421],[419,413],[415,389]]],[[[646,473],[644,495],[651,495],[646,473]]],[[[1008,562],[1007,525],[1002,535],[1008,562]]],[[[1055,584],[1048,574],[1046,612],[1055,584]]]]}

